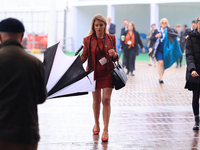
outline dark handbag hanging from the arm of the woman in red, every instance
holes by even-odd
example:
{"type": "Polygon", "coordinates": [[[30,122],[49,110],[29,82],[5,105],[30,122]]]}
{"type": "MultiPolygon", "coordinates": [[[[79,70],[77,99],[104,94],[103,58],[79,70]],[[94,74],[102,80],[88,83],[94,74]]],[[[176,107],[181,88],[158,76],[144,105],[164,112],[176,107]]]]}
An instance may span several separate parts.
{"type": "Polygon", "coordinates": [[[114,62],[115,68],[113,69],[112,81],[115,87],[115,90],[119,90],[126,85],[127,76],[124,72],[122,64],[117,61],[117,64],[114,62]]]}

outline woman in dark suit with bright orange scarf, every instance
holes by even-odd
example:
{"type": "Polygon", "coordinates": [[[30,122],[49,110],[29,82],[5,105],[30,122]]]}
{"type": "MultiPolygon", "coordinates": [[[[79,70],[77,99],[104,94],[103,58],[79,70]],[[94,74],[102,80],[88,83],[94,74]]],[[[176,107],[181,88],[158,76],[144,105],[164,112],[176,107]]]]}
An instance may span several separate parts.
{"type": "Polygon", "coordinates": [[[139,33],[136,31],[135,24],[133,22],[128,23],[128,30],[123,34],[124,38],[122,39],[122,48],[125,55],[125,66],[127,69],[127,75],[131,72],[131,75],[134,76],[133,71],[135,70],[135,58],[139,54],[139,47],[142,48],[142,52],[145,52],[142,41],[140,39],[139,33]]]}

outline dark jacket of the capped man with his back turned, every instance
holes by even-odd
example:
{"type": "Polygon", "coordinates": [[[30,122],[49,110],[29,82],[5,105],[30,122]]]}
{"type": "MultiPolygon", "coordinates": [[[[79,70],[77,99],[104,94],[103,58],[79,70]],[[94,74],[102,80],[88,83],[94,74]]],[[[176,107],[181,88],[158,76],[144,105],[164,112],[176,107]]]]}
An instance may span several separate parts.
{"type": "Polygon", "coordinates": [[[46,100],[45,72],[40,60],[21,44],[0,44],[0,140],[34,144],[39,141],[37,105],[46,100]]]}

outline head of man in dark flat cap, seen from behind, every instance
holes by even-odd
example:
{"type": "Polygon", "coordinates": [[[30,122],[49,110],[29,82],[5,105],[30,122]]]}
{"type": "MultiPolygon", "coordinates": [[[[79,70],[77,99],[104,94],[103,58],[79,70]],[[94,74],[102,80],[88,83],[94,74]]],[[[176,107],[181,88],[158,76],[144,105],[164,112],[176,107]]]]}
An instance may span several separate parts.
{"type": "Polygon", "coordinates": [[[24,25],[15,18],[7,18],[0,22],[0,41],[14,39],[21,43],[24,35],[24,25]]]}

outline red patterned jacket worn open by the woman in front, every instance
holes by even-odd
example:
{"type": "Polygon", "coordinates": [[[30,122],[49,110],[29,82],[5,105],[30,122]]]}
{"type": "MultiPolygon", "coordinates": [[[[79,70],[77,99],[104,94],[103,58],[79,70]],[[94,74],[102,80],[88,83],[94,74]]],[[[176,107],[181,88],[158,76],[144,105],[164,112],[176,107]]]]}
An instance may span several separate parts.
{"type": "MultiPolygon", "coordinates": [[[[84,63],[88,59],[87,70],[95,70],[96,66],[96,56],[95,50],[97,49],[97,39],[95,35],[87,36],[83,39],[83,53],[81,55],[81,61],[84,63]]],[[[114,68],[113,61],[117,61],[119,58],[110,57],[108,54],[108,50],[114,49],[116,52],[116,38],[114,35],[105,34],[105,48],[106,59],[107,59],[107,72],[110,75],[110,79],[112,77],[112,71],[114,68]]],[[[111,80],[112,81],[112,80],[111,80]]]]}

